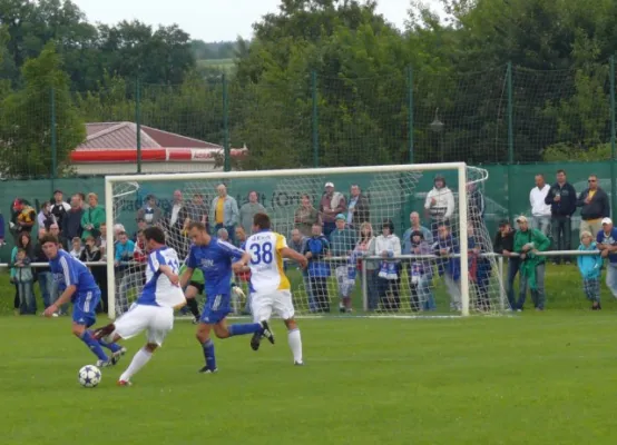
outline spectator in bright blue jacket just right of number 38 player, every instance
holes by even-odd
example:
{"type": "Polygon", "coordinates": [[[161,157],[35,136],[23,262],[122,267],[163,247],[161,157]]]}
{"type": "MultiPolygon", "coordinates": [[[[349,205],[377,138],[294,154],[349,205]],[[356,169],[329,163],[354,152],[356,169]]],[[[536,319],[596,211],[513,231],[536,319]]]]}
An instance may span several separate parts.
{"type": "Polygon", "coordinates": [[[322,226],[313,225],[313,233],[304,245],[302,253],[308,259],[308,280],[311,294],[315,298],[315,312],[330,312],[330,297],[327,295],[327,278],[330,277],[330,265],[324,258],[330,256],[330,243],[322,235],[322,226]]]}

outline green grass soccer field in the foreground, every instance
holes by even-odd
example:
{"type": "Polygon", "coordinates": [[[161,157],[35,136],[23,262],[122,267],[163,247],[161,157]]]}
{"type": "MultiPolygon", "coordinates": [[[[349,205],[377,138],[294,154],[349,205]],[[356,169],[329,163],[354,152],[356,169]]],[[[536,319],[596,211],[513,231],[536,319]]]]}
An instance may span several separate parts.
{"type": "Polygon", "coordinates": [[[304,367],[276,320],[275,346],[216,340],[219,373],[200,375],[179,322],[133,387],[115,380],[143,338],[86,389],[68,318],[0,317],[0,443],[615,443],[614,314],[300,323],[304,367]]]}

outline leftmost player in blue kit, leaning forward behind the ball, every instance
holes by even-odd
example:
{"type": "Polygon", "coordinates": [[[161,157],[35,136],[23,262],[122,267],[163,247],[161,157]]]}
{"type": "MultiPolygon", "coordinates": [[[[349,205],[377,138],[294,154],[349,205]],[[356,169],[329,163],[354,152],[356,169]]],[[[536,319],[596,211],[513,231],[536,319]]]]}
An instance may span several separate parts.
{"type": "Polygon", "coordinates": [[[45,309],[45,316],[53,316],[62,305],[71,301],[72,334],[97,356],[98,367],[115,365],[126,349],[98,340],[88,330],[97,320],[95,309],[100,300],[100,289],[95,277],[84,263],[61,250],[56,236],[45,235],[40,243],[45,255],[49,258],[50,271],[58,283],[58,289],[62,293],[51,306],[45,309]],[[102,347],[111,350],[111,357],[105,354],[102,347]]]}

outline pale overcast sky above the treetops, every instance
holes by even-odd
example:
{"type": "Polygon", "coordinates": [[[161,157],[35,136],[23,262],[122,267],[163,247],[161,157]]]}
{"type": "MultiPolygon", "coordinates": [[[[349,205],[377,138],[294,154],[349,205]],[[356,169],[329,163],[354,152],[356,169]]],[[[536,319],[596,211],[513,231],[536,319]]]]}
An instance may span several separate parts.
{"type": "MultiPolygon", "coordinates": [[[[91,22],[108,24],[137,19],[148,24],[177,23],[194,39],[235,40],[252,37],[255,21],[276,12],[278,0],[72,0],[91,22]]],[[[437,4],[439,0],[427,0],[437,4]]],[[[403,27],[410,0],[378,0],[379,12],[403,27]]]]}

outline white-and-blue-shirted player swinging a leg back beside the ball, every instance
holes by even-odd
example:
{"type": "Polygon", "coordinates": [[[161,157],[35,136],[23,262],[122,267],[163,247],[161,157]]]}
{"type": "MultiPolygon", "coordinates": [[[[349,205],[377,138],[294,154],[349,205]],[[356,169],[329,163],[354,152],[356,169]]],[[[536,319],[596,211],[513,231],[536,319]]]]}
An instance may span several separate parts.
{"type": "Polygon", "coordinates": [[[119,386],[129,386],[130,377],[148,363],[153,353],[174,327],[174,309],[186,304],[179,287],[179,261],[176,250],[165,245],[165,234],[158,227],[144,230],[148,264],[146,285],[137,301],[117,322],[95,330],[95,338],[108,336],[108,342],[135,337],[147,330],[147,343],[135,354],[120,375],[119,386]]]}

